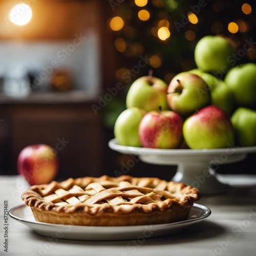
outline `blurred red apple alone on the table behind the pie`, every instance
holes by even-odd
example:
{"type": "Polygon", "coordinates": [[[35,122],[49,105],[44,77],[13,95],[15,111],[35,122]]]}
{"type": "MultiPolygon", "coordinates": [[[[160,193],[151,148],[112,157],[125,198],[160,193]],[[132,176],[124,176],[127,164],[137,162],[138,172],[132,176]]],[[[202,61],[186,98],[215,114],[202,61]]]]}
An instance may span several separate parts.
{"type": "Polygon", "coordinates": [[[46,144],[27,146],[18,155],[17,170],[30,185],[49,183],[58,173],[57,152],[46,144]]]}

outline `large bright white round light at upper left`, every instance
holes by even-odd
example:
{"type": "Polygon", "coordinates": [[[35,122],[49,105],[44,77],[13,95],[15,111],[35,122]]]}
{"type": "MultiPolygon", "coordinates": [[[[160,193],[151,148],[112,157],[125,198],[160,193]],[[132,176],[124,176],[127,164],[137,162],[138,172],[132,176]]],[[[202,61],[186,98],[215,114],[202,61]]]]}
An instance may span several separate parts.
{"type": "Polygon", "coordinates": [[[9,17],[13,24],[23,26],[30,22],[32,10],[27,4],[18,4],[11,9],[9,17]]]}

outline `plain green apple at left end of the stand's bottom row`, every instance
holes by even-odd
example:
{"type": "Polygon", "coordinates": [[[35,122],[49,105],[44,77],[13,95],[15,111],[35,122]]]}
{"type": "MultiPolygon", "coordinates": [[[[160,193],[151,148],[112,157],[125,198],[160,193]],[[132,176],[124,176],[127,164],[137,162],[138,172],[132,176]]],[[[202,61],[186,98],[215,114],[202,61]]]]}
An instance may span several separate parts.
{"type": "Polygon", "coordinates": [[[124,110],[116,119],[114,135],[119,145],[140,147],[139,123],[146,112],[139,108],[124,110]]]}

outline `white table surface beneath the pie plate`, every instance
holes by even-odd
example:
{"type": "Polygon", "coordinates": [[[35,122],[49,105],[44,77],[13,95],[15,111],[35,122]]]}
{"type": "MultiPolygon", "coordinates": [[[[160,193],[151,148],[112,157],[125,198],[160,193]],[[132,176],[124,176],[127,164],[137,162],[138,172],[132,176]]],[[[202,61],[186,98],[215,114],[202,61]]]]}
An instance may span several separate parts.
{"type": "MultiPolygon", "coordinates": [[[[256,180],[256,178],[255,178],[256,180]]],[[[232,188],[228,193],[205,196],[199,204],[211,216],[174,236],[133,241],[50,241],[26,225],[8,218],[8,253],[4,251],[4,200],[8,208],[22,204],[29,185],[19,176],[0,176],[0,255],[256,255],[256,187],[232,188]]]]}

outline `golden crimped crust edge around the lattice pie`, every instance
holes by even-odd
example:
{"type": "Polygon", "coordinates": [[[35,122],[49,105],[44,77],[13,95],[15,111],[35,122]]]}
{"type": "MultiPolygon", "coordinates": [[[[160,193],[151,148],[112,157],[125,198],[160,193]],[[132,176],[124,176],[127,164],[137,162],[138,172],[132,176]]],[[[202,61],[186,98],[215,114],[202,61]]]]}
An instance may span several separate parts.
{"type": "MultiPolygon", "coordinates": [[[[110,181],[129,181],[131,183],[142,181],[142,179],[150,179],[152,182],[161,181],[159,178],[136,178],[132,176],[123,175],[117,178],[109,177],[109,176],[101,176],[99,178],[93,177],[84,177],[72,179],[74,183],[79,183],[83,179],[91,179],[92,182],[98,182],[102,180],[110,180],[110,181]]],[[[66,181],[64,181],[66,182],[66,181]]],[[[183,183],[176,183],[173,181],[168,182],[168,184],[172,187],[175,187],[177,193],[180,193],[180,201],[175,199],[166,199],[161,203],[151,203],[151,204],[134,204],[129,205],[129,207],[115,206],[111,204],[101,204],[99,206],[95,206],[93,208],[88,207],[88,205],[84,203],[80,203],[77,205],[73,205],[71,207],[67,206],[58,206],[52,202],[46,202],[41,195],[39,195],[36,190],[38,188],[43,188],[48,186],[49,184],[43,185],[34,185],[31,186],[27,191],[22,194],[22,200],[24,200],[25,204],[31,208],[36,208],[41,212],[50,212],[51,214],[76,214],[77,216],[90,215],[90,216],[103,216],[106,212],[114,213],[117,215],[131,214],[132,212],[141,212],[144,214],[150,214],[151,212],[158,211],[164,212],[169,209],[173,210],[184,210],[193,205],[194,202],[200,199],[200,193],[197,188],[193,188],[191,186],[187,186],[183,183]]]]}

